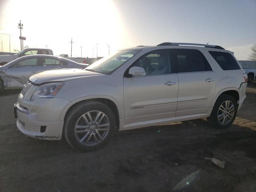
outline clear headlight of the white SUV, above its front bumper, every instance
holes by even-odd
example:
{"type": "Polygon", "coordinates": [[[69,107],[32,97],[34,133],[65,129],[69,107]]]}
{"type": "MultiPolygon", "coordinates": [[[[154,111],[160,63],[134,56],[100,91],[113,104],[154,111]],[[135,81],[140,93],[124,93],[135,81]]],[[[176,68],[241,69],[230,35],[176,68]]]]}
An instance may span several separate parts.
{"type": "Polygon", "coordinates": [[[33,93],[31,100],[38,98],[53,98],[62,88],[64,83],[47,83],[39,86],[33,93]]]}

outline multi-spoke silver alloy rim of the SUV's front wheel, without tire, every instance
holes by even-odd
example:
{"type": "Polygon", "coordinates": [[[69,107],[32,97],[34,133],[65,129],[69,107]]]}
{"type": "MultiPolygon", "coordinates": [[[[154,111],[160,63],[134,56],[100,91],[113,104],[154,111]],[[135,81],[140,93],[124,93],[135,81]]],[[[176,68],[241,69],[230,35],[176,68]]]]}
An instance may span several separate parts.
{"type": "Polygon", "coordinates": [[[94,146],[106,138],[109,130],[110,122],[106,114],[100,111],[89,111],[76,122],[75,135],[80,143],[94,146]]]}

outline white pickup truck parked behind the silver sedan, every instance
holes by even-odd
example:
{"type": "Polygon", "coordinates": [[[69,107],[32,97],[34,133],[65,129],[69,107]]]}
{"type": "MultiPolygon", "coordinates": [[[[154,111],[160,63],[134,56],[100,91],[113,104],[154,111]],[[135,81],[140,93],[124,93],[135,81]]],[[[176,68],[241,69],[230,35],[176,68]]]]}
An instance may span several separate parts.
{"type": "Polygon", "coordinates": [[[27,48],[24,49],[14,55],[1,55],[0,56],[0,66],[17,59],[21,56],[25,55],[53,55],[53,52],[51,49],[41,49],[41,48],[27,48]]]}

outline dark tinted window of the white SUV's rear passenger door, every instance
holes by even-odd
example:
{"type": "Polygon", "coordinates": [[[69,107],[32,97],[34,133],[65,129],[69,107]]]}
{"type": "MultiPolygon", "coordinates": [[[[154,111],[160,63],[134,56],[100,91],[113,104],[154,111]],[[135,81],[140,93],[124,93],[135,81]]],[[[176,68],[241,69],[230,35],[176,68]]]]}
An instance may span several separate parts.
{"type": "Polygon", "coordinates": [[[210,67],[203,54],[198,50],[177,49],[172,50],[173,60],[177,72],[210,71],[210,67]]]}

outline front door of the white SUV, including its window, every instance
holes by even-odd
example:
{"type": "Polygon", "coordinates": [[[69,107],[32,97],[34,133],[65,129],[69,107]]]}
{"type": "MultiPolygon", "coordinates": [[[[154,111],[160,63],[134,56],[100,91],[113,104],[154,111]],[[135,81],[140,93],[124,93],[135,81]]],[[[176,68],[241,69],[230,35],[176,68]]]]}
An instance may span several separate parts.
{"type": "Polygon", "coordinates": [[[143,67],[146,76],[124,77],[125,123],[174,117],[178,76],[172,74],[170,52],[149,52],[132,66],[143,67]]]}

